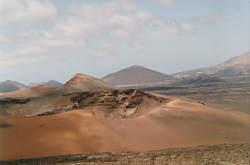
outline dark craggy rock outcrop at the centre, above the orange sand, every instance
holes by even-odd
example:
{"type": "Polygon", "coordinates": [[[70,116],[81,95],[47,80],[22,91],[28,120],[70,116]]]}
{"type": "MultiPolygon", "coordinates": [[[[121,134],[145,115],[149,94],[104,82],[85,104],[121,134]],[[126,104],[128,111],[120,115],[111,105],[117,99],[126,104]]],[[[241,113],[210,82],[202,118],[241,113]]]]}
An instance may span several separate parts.
{"type": "MultiPolygon", "coordinates": [[[[71,98],[76,109],[91,110],[93,107],[100,107],[106,117],[136,117],[140,107],[146,102],[160,104],[165,98],[143,93],[138,90],[111,90],[99,92],[83,92],[71,98]]],[[[94,108],[93,108],[94,109],[94,108]]],[[[98,108],[95,108],[98,109],[98,108]]],[[[94,113],[99,113],[94,110],[94,113]]]]}

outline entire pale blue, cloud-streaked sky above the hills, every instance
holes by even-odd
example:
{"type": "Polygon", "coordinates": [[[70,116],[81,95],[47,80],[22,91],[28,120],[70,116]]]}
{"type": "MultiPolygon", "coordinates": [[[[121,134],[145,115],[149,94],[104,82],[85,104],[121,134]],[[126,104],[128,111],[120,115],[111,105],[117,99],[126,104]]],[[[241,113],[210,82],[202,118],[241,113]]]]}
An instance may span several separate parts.
{"type": "Polygon", "coordinates": [[[0,81],[166,74],[250,48],[250,0],[0,0],[0,81]]]}

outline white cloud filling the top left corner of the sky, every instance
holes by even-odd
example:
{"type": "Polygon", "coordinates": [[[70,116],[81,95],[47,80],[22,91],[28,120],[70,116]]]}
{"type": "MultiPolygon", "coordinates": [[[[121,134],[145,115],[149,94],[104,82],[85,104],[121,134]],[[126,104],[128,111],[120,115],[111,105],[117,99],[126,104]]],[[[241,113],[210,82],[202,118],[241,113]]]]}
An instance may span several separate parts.
{"type": "Polygon", "coordinates": [[[38,22],[56,13],[55,6],[47,0],[0,0],[0,25],[38,22]]]}

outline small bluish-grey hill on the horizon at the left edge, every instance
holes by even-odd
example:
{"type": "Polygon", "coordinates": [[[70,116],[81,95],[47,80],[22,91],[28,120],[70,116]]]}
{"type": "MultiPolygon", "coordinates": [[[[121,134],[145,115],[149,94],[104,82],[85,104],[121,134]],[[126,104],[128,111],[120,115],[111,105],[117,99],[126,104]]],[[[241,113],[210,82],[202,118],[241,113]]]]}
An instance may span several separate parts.
{"type": "Polygon", "coordinates": [[[7,80],[0,82],[0,93],[12,92],[23,88],[26,88],[26,85],[17,81],[7,80]]]}

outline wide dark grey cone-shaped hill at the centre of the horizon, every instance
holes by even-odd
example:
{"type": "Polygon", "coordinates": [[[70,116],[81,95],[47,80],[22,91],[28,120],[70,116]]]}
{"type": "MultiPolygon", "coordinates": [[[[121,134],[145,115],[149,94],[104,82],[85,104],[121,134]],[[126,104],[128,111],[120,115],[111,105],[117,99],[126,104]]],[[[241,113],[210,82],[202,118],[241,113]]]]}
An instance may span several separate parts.
{"type": "Polygon", "coordinates": [[[175,78],[143,66],[134,65],[118,72],[111,73],[103,77],[102,80],[110,84],[126,86],[150,85],[162,82],[167,83],[175,80],[175,78]]]}

